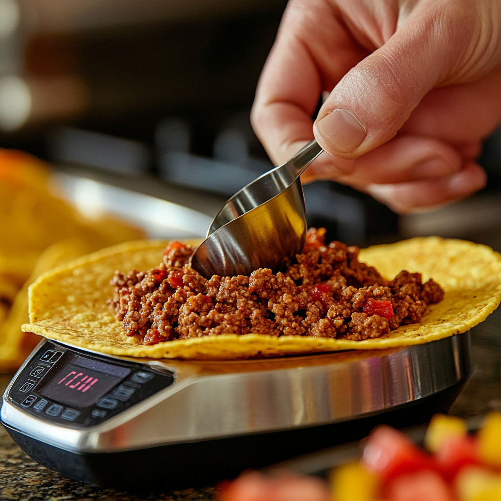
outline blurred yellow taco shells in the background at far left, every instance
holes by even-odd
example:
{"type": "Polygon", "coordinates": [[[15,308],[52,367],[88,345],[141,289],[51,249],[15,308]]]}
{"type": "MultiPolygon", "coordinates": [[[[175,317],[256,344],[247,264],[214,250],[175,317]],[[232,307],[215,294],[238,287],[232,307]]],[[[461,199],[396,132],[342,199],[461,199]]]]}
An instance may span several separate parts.
{"type": "Polygon", "coordinates": [[[0,372],[15,370],[39,338],[22,333],[27,289],[38,275],[94,250],[144,237],[115,217],[88,218],[49,189],[51,170],[0,149],[0,372]]]}

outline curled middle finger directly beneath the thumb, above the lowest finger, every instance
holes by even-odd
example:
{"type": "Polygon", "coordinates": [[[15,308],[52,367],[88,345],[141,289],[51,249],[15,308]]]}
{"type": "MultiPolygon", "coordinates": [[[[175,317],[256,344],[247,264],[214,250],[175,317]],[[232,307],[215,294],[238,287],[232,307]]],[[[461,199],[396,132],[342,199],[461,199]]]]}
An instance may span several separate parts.
{"type": "Polygon", "coordinates": [[[323,153],[301,179],[331,179],[358,186],[402,183],[451,175],[462,163],[458,151],[442,141],[399,135],[358,158],[346,160],[323,153]]]}

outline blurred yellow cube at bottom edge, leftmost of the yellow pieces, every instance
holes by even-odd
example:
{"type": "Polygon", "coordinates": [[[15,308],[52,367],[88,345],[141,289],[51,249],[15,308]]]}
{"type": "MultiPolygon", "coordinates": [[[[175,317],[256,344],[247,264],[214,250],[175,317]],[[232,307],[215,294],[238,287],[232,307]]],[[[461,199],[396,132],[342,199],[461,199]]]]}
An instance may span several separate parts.
{"type": "Polygon", "coordinates": [[[358,462],[334,468],[329,480],[334,501],[372,501],[377,498],[377,477],[358,462]]]}

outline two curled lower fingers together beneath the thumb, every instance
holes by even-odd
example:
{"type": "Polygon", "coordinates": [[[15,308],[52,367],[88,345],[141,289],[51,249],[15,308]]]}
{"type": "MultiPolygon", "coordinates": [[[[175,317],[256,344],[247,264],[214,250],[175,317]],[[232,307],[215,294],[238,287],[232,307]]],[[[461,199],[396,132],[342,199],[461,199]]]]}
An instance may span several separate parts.
{"type": "Polygon", "coordinates": [[[478,143],[470,143],[459,152],[434,139],[397,136],[354,159],[339,159],[324,152],[302,180],[331,179],[369,193],[395,212],[413,212],[483,188],[485,172],[472,161],[479,148],[478,143]]]}

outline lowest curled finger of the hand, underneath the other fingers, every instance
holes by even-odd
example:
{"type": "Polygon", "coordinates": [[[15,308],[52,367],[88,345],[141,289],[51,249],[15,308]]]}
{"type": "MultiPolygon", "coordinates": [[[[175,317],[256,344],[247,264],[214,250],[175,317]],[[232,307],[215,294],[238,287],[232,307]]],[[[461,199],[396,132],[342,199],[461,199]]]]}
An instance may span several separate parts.
{"type": "Polygon", "coordinates": [[[399,184],[371,184],[363,188],[363,191],[395,212],[405,214],[468,196],[482,189],[486,181],[485,171],[470,161],[450,176],[399,184]]]}

